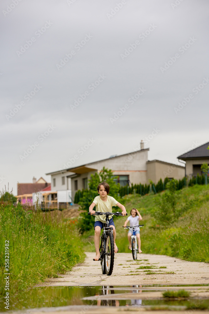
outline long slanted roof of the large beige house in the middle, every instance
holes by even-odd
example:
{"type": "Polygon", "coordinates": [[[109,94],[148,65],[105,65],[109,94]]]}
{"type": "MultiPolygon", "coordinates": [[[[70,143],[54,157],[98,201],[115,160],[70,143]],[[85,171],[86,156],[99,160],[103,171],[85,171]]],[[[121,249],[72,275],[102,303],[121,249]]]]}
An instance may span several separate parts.
{"type": "MultiPolygon", "coordinates": [[[[118,158],[118,157],[123,157],[123,156],[127,156],[127,155],[130,155],[130,154],[135,154],[135,153],[140,153],[140,152],[145,152],[149,150],[149,148],[146,148],[146,149],[140,149],[140,150],[137,150],[137,151],[134,151],[134,152],[131,152],[131,153],[127,153],[127,154],[122,154],[122,155],[112,155],[110,156],[109,158],[105,158],[105,159],[102,159],[102,160],[97,160],[97,161],[94,161],[94,162],[90,162],[88,164],[84,164],[84,165],[80,165],[80,166],[77,166],[77,167],[73,167],[73,168],[67,168],[67,169],[64,169],[64,170],[60,170],[60,171],[53,171],[53,172],[48,172],[46,173],[46,175],[52,175],[52,174],[56,174],[56,173],[62,173],[63,171],[70,171],[70,172],[74,172],[74,173],[77,173],[77,174],[81,174],[81,173],[86,173],[86,172],[89,172],[89,171],[94,171],[94,170],[97,170],[95,168],[91,168],[91,167],[88,167],[88,165],[94,165],[96,164],[97,162],[102,162],[102,161],[105,161],[105,160],[112,160],[112,159],[115,159],[115,158],[118,158]],[[80,169],[80,170],[79,170],[80,169]],[[85,169],[87,171],[85,171],[85,169]],[[76,171],[84,171],[84,172],[76,172],[76,171]]],[[[73,175],[73,174],[72,174],[73,175]]]]}

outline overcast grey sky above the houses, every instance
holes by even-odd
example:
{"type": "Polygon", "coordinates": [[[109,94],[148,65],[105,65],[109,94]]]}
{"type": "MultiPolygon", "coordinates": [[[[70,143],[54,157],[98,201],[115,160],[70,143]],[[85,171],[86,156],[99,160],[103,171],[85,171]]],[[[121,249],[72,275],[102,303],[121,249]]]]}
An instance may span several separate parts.
{"type": "Polygon", "coordinates": [[[1,190],[50,182],[45,173],[75,154],[72,166],[144,139],[149,160],[174,163],[208,142],[208,9],[207,0],[2,0],[1,190]]]}

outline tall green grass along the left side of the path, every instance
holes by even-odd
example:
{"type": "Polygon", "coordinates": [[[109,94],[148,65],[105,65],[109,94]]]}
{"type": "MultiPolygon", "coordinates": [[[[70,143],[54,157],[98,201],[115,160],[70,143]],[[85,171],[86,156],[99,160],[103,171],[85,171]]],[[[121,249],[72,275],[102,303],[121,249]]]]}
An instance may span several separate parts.
{"type": "MultiPolygon", "coordinates": [[[[4,246],[9,240],[10,295],[24,292],[84,259],[82,244],[71,221],[62,221],[20,204],[0,207],[0,278],[4,282],[4,246]]],[[[1,285],[0,295],[5,295],[1,285]]]]}

